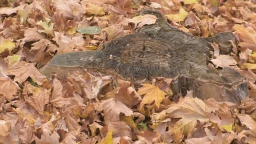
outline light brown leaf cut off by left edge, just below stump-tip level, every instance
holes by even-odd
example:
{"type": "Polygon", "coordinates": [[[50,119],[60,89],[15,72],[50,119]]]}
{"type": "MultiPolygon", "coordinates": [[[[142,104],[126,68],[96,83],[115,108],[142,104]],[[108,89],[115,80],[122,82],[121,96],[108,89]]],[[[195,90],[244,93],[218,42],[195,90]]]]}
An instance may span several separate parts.
{"type": "Polygon", "coordinates": [[[9,77],[0,77],[0,94],[8,101],[15,99],[15,94],[19,89],[19,85],[13,82],[9,77]]]}

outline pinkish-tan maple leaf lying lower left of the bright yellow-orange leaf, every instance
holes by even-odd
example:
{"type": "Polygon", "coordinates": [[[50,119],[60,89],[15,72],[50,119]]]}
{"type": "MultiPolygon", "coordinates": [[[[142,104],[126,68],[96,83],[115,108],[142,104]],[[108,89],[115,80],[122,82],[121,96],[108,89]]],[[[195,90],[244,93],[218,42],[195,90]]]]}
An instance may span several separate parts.
{"type": "Polygon", "coordinates": [[[131,116],[133,114],[131,109],[125,106],[121,101],[117,101],[114,98],[101,101],[98,111],[101,112],[102,110],[104,111],[104,120],[107,123],[118,121],[120,119],[119,114],[121,112],[126,116],[131,116]]]}

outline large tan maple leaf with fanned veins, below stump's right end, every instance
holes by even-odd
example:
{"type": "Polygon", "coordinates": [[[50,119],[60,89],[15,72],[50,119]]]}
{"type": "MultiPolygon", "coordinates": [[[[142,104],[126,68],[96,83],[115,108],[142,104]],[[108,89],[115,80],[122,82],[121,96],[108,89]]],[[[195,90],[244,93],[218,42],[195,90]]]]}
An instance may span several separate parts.
{"type": "Polygon", "coordinates": [[[208,121],[208,113],[210,112],[211,109],[201,99],[187,96],[166,110],[168,117],[181,117],[183,122],[208,121]]]}

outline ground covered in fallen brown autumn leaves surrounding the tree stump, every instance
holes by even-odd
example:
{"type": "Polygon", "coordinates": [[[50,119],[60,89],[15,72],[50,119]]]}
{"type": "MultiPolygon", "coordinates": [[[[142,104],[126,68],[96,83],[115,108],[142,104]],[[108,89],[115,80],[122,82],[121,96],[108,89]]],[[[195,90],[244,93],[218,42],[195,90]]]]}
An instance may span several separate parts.
{"type": "Polygon", "coordinates": [[[0,0],[0,143],[256,144],[255,0],[0,0]],[[239,43],[213,67],[248,82],[240,105],[174,95],[171,78],[136,89],[111,75],[46,78],[53,56],[96,50],[145,24],[142,9],[197,37],[233,32],[239,43]]]}

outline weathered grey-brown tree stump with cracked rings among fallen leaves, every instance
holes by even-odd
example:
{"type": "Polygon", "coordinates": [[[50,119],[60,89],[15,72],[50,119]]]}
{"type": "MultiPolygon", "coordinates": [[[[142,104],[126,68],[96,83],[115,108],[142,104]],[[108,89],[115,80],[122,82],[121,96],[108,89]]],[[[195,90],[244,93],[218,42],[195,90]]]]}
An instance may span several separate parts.
{"type": "Polygon", "coordinates": [[[236,70],[208,67],[209,42],[215,41],[221,53],[232,51],[232,33],[216,37],[194,37],[170,26],[162,13],[144,10],[141,14],[157,16],[155,24],[146,25],[135,34],[126,35],[102,46],[100,51],[83,51],[55,56],[41,72],[50,76],[67,75],[67,71],[88,69],[119,75],[126,80],[172,77],[172,90],[200,99],[215,98],[239,104],[248,96],[247,83],[236,70]]]}

